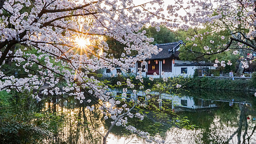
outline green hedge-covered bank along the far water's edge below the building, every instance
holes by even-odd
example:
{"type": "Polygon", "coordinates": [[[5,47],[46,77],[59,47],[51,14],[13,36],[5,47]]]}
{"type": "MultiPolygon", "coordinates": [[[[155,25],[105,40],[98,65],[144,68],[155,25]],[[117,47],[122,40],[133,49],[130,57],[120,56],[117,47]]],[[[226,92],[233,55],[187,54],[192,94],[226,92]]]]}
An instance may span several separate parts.
{"type": "MultiPolygon", "coordinates": [[[[107,80],[107,84],[109,84],[110,87],[116,87],[118,81],[122,82],[122,84],[126,84],[127,78],[108,77],[103,79],[107,80]]],[[[129,77],[129,79],[131,79],[132,83],[135,85],[135,88],[138,88],[140,85],[143,85],[144,88],[152,88],[154,84],[163,83],[162,78],[156,78],[154,81],[144,78],[143,83],[135,79],[135,77],[129,77]]],[[[253,77],[250,80],[214,79],[210,77],[176,77],[169,78],[169,82],[167,83],[182,84],[183,88],[256,91],[256,73],[253,74],[253,77]]]]}

